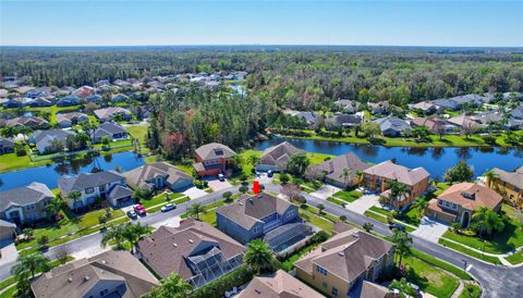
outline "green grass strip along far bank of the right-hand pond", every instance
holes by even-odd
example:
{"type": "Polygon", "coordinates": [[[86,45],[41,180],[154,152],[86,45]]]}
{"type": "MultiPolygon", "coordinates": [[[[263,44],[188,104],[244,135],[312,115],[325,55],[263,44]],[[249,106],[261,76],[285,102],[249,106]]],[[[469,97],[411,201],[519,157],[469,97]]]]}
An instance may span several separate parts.
{"type": "MultiPolygon", "coordinates": [[[[332,141],[344,141],[351,144],[369,144],[367,139],[363,136],[355,137],[353,135],[343,136],[343,137],[327,137],[327,136],[318,136],[314,131],[303,131],[304,133],[308,134],[307,137],[296,137],[296,136],[289,136],[294,138],[304,138],[304,139],[317,139],[317,140],[332,140],[332,141]]],[[[522,132],[516,132],[516,134],[523,134],[522,132]]],[[[477,147],[477,146],[489,146],[485,140],[478,136],[473,135],[469,138],[461,135],[447,135],[443,136],[441,139],[437,135],[430,135],[430,141],[427,142],[419,142],[413,139],[408,138],[391,138],[391,137],[380,137],[379,138],[384,146],[388,147],[418,147],[418,148],[428,148],[428,147],[477,147]]],[[[498,134],[496,136],[496,144],[497,146],[510,146],[504,140],[504,134],[498,134]]]]}

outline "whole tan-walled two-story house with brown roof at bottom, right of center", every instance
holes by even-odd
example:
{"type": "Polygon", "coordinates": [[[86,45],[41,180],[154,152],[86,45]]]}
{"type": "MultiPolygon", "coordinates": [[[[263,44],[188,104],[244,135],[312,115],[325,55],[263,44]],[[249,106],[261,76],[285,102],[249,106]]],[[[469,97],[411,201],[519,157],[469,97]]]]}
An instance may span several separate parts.
{"type": "Polygon", "coordinates": [[[296,277],[327,297],[360,297],[364,281],[374,282],[393,266],[394,246],[338,222],[335,236],[294,263],[296,277]]]}

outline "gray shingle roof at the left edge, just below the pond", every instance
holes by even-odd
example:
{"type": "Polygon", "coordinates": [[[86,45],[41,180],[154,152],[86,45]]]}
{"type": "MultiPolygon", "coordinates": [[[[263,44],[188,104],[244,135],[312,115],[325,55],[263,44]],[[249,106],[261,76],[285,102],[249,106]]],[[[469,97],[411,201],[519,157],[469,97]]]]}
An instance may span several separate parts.
{"type": "Polygon", "coordinates": [[[54,198],[54,194],[41,183],[34,182],[27,186],[0,193],[0,210],[10,206],[27,206],[45,199],[54,198]]]}

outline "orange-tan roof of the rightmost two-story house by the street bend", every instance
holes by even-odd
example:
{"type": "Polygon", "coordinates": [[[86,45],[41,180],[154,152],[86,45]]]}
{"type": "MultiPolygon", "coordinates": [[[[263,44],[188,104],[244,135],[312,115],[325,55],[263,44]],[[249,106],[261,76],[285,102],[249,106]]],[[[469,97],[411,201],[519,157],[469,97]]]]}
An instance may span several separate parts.
{"type": "Polygon", "coordinates": [[[438,196],[438,199],[457,203],[470,210],[475,210],[479,207],[494,209],[501,203],[503,197],[492,189],[477,184],[459,183],[445,190],[438,196]]]}

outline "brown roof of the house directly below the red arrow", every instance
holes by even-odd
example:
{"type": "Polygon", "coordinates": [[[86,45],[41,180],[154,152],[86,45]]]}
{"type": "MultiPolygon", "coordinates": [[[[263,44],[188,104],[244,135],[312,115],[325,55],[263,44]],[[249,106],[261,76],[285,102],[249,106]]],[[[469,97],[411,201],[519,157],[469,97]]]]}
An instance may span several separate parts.
{"type": "Polygon", "coordinates": [[[218,208],[216,213],[222,214],[246,229],[251,229],[255,223],[262,222],[262,219],[267,215],[275,212],[283,214],[290,206],[292,203],[288,200],[260,193],[258,196],[243,195],[236,202],[218,208]]]}

